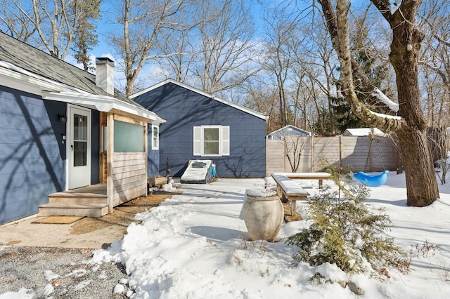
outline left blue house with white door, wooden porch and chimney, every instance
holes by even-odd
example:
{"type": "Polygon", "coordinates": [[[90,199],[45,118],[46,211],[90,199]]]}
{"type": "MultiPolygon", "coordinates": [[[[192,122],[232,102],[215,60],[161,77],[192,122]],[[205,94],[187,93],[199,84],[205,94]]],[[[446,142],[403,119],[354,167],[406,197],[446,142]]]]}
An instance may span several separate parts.
{"type": "Polygon", "coordinates": [[[115,91],[113,69],[99,58],[94,76],[0,32],[0,224],[99,217],[146,194],[148,124],[164,120],[115,91]]]}

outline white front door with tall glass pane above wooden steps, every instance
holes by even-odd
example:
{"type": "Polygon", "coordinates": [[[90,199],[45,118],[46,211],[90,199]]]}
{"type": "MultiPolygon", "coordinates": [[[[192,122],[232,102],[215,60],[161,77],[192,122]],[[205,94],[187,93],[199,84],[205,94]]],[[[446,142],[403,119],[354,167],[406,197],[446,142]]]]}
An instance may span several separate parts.
{"type": "Polygon", "coordinates": [[[69,189],[91,185],[91,110],[68,105],[69,189]]]}

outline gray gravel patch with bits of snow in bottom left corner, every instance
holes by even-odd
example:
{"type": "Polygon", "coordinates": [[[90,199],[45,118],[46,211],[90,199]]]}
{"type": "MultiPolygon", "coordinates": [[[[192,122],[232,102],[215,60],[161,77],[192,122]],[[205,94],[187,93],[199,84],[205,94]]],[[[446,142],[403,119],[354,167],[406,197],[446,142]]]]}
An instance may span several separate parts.
{"type": "Polygon", "coordinates": [[[18,298],[18,291],[26,293],[20,298],[127,298],[124,267],[89,265],[91,255],[90,249],[0,246],[0,299],[18,298]],[[123,292],[113,293],[116,286],[123,292]]]}

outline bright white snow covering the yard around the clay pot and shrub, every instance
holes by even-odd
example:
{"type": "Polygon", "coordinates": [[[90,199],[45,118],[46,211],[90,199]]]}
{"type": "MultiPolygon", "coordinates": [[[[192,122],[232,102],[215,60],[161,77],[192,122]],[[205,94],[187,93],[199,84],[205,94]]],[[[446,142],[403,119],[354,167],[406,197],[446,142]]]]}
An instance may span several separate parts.
{"type": "MultiPolygon", "coordinates": [[[[318,192],[316,180],[299,182],[310,194],[318,192]]],[[[136,215],[141,225],[130,225],[108,250],[95,251],[91,263],[124,263],[135,290],[127,294],[131,298],[449,298],[449,186],[439,185],[441,198],[424,208],[406,206],[404,175],[388,173],[385,185],[371,188],[366,202],[390,215],[394,227],[388,234],[405,251],[413,249],[411,273],[388,269],[390,278],[379,281],[320,266],[328,278],[353,281],[364,290],[355,295],[337,283],[311,284],[316,267],[292,259],[296,248],[282,239],[307,227],[305,220],[284,223],[278,242],[246,241],[245,190],[262,185],[263,179],[184,185],[183,194],[136,215]],[[438,247],[423,253],[425,242],[438,247]]],[[[300,214],[306,215],[305,208],[297,203],[300,214]]]]}

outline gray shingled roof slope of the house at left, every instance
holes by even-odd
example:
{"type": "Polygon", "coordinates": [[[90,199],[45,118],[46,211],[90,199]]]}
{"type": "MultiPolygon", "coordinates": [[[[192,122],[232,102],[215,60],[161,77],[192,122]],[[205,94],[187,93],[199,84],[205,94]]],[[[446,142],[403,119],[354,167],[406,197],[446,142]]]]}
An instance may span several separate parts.
{"type": "MultiPolygon", "coordinates": [[[[55,58],[1,31],[0,60],[9,62],[52,81],[86,91],[87,93],[109,95],[102,88],[96,86],[96,77],[94,74],[70,65],[68,62],[55,58]]],[[[120,93],[120,91],[115,90],[114,97],[117,100],[122,100],[136,107],[143,108],[137,102],[134,102],[134,100],[120,93]]]]}

